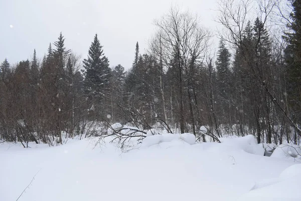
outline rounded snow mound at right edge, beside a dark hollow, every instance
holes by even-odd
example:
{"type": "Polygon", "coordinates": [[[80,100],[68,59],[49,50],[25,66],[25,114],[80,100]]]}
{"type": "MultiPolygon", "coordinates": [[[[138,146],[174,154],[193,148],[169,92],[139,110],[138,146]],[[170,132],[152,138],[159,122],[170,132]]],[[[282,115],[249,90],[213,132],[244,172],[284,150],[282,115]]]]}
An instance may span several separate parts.
{"type": "Polygon", "coordinates": [[[276,147],[271,157],[301,161],[301,147],[294,144],[281,144],[276,147]]]}

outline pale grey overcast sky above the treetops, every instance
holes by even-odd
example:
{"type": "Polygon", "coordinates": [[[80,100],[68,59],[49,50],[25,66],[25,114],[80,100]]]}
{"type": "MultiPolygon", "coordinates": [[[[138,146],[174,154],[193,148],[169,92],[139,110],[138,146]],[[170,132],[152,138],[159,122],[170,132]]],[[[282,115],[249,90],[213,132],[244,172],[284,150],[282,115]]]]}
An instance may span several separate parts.
{"type": "Polygon", "coordinates": [[[41,59],[60,32],[66,47],[84,59],[97,33],[110,66],[128,69],[136,42],[143,53],[154,19],[172,4],[197,13],[202,25],[215,31],[215,0],[0,0],[0,61],[30,59],[34,49],[41,59]]]}

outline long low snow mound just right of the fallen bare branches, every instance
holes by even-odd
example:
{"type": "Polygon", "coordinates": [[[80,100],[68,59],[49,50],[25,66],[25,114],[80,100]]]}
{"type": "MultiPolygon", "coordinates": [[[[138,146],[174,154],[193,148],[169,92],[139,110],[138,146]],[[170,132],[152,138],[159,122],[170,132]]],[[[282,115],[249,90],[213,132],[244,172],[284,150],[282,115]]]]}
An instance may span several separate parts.
{"type": "MultiPolygon", "coordinates": [[[[148,133],[148,132],[147,132],[148,133]]],[[[146,138],[143,139],[143,143],[141,147],[150,147],[153,145],[159,145],[165,142],[173,142],[173,141],[183,141],[189,145],[193,145],[196,143],[196,137],[191,133],[183,133],[183,134],[162,134],[162,135],[147,135],[146,138]]]]}

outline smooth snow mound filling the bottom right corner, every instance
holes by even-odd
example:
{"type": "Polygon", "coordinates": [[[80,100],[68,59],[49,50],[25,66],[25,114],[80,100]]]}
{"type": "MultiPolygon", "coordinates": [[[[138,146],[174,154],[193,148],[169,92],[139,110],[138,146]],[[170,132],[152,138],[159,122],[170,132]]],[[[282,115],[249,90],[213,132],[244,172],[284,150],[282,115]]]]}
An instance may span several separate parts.
{"type": "Polygon", "coordinates": [[[272,201],[272,200],[301,200],[299,182],[301,180],[301,164],[291,165],[283,170],[278,178],[265,179],[243,194],[240,201],[272,201]]]}

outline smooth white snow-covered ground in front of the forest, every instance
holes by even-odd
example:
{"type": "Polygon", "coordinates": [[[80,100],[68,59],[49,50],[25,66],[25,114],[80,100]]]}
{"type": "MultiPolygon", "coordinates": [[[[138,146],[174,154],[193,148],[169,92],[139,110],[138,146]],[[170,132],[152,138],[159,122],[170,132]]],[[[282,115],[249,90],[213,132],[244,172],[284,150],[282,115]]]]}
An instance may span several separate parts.
{"type": "Polygon", "coordinates": [[[96,141],[0,144],[0,200],[24,189],[19,200],[301,200],[301,164],[263,156],[253,136],[194,144],[190,134],[154,135],[126,153],[96,141]]]}

